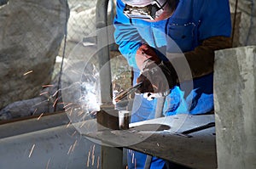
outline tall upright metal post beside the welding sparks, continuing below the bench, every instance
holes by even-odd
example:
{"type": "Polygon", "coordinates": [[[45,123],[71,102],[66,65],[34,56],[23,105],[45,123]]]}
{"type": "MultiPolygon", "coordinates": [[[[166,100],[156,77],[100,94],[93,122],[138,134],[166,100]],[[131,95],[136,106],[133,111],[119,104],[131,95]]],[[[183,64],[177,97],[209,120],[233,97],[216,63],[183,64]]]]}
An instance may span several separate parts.
{"type": "MultiPolygon", "coordinates": [[[[96,29],[102,107],[113,105],[108,41],[108,0],[97,0],[96,29]],[[106,29],[102,29],[106,27],[106,29]],[[100,31],[99,31],[100,30],[100,31]]],[[[122,168],[123,149],[102,145],[102,169],[122,168]]]]}

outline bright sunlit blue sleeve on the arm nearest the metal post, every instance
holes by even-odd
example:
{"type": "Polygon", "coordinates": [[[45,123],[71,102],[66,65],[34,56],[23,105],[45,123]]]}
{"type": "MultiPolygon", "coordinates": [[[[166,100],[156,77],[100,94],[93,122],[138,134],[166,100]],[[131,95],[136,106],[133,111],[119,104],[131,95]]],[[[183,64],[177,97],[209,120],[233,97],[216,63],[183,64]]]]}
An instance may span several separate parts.
{"type": "Polygon", "coordinates": [[[117,0],[113,37],[119,45],[119,52],[127,59],[128,64],[137,68],[135,55],[137,49],[143,44],[143,39],[138,34],[136,26],[132,25],[131,20],[123,14],[124,8],[125,4],[117,0]]]}

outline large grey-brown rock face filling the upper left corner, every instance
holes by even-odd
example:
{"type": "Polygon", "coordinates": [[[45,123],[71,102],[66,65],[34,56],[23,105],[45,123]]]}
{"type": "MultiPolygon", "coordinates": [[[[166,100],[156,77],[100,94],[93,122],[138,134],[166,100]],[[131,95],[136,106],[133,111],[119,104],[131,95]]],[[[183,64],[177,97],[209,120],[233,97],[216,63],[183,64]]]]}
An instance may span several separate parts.
{"type": "Polygon", "coordinates": [[[9,0],[0,7],[0,109],[48,84],[67,18],[65,0],[9,0]]]}

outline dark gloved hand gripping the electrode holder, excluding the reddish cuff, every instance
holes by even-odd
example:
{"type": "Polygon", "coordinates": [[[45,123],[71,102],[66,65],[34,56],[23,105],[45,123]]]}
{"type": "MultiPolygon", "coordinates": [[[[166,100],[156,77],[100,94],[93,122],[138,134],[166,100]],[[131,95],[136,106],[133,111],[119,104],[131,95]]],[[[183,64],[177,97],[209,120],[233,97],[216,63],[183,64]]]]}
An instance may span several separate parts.
{"type": "Polygon", "coordinates": [[[139,82],[143,82],[138,88],[140,93],[147,93],[148,97],[152,93],[154,97],[162,97],[170,93],[170,89],[177,84],[177,74],[171,63],[149,64],[137,78],[137,83],[139,82]]]}

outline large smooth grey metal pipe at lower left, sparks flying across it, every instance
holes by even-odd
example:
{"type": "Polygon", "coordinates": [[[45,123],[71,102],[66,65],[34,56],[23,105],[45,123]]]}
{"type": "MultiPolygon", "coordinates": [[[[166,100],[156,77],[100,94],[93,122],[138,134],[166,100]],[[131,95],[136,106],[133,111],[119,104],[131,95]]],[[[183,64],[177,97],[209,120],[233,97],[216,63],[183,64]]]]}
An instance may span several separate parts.
{"type": "Polygon", "coordinates": [[[99,167],[97,165],[100,162],[100,147],[81,137],[72,125],[59,126],[63,119],[66,121],[61,115],[49,115],[39,121],[32,119],[1,125],[0,132],[6,131],[9,134],[0,138],[0,168],[99,167]],[[53,119],[56,120],[53,122],[56,125],[51,124],[51,127],[45,128],[49,126],[45,120],[53,119]],[[15,133],[7,130],[7,127],[15,129],[16,131],[13,131],[15,133]],[[92,159],[92,147],[94,147],[94,159],[92,159]]]}

